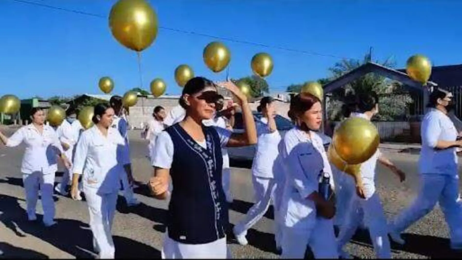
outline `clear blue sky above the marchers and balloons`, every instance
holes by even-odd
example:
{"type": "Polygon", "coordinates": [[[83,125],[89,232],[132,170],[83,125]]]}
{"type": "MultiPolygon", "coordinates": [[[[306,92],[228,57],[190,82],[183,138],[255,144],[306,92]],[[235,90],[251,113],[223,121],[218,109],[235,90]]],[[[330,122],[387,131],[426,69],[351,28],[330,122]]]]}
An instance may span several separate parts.
{"type": "MultiPolygon", "coordinates": [[[[29,0],[109,15],[115,0],[29,0]]],[[[274,59],[267,77],[272,92],[291,83],[328,75],[341,57],[362,58],[373,47],[374,59],[394,56],[398,67],[415,53],[434,65],[462,63],[462,1],[457,0],[150,0],[159,25],[218,37],[316,52],[264,48],[222,41],[231,50],[231,77],[251,74],[250,59],[268,52],[274,59]]],[[[136,53],[112,37],[108,19],[1,0],[0,95],[100,94],[97,81],[110,76],[114,93],[138,87],[136,53]]],[[[181,93],[173,78],[177,65],[212,80],[202,50],[213,38],[159,29],[142,53],[144,88],[163,78],[170,94],[181,93]]]]}

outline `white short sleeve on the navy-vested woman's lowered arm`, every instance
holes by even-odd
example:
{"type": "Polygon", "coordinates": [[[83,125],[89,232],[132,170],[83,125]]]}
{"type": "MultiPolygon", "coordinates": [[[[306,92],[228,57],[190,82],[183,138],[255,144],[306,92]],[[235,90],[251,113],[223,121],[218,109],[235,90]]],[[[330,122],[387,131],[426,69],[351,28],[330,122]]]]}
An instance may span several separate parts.
{"type": "Polygon", "coordinates": [[[173,141],[168,132],[162,131],[156,138],[152,166],[170,169],[173,162],[173,141]]]}

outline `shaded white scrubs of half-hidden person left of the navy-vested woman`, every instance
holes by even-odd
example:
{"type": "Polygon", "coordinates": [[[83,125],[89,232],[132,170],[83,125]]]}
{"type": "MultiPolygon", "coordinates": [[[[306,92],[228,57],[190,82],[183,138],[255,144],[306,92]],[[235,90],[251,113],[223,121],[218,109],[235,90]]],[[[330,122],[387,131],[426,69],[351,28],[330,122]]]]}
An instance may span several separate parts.
{"type": "Polygon", "coordinates": [[[122,180],[123,188],[123,197],[128,205],[138,204],[138,200],[134,196],[133,187],[128,182],[128,175],[123,167],[126,164],[130,163],[130,149],[128,142],[128,123],[122,117],[114,116],[114,121],[112,122],[112,128],[119,131],[120,135],[125,140],[125,145],[119,146],[117,148],[117,158],[120,164],[120,179],[122,180]]]}

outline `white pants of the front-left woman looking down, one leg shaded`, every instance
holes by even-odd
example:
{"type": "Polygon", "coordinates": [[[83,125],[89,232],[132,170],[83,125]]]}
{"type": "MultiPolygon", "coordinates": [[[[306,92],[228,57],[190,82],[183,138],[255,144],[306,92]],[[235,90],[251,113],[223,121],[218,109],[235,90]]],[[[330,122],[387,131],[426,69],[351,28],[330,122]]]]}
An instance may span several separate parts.
{"type": "Polygon", "coordinates": [[[93,247],[100,259],[114,259],[112,221],[116,213],[117,192],[97,194],[97,189],[84,186],[85,198],[90,211],[90,229],[93,233],[93,247]]]}

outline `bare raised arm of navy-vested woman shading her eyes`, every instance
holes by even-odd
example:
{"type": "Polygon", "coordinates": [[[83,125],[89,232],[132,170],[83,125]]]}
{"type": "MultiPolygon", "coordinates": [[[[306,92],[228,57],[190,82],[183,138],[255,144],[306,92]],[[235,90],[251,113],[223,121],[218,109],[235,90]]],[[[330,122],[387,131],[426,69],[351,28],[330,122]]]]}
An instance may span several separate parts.
{"type": "Polygon", "coordinates": [[[227,81],[222,83],[222,86],[231,91],[238,99],[243,116],[244,130],[243,134],[233,133],[230,136],[227,147],[241,147],[257,143],[257,131],[255,129],[255,120],[250,110],[247,97],[239,90],[234,83],[227,81]]]}

